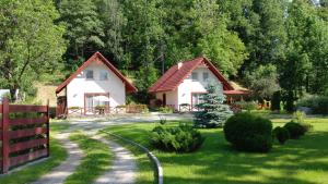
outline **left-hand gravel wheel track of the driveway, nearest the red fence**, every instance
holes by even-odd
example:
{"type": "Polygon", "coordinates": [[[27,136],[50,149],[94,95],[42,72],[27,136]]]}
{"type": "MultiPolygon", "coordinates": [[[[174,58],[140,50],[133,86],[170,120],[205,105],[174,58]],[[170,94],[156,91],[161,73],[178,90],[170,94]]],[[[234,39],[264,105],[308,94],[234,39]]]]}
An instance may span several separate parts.
{"type": "Polygon", "coordinates": [[[55,138],[58,139],[60,145],[68,151],[68,158],[60,163],[60,165],[54,168],[49,173],[43,175],[32,184],[63,183],[69,175],[74,173],[75,168],[80,164],[83,152],[75,143],[70,140],[69,133],[57,134],[55,138]]]}

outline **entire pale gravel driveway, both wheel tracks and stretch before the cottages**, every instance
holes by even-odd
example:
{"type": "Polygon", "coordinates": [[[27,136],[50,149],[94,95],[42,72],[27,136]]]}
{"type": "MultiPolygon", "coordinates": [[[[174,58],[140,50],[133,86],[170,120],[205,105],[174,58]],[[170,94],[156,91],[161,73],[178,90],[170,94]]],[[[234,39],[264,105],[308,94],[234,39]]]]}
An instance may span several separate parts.
{"type": "MultiPolygon", "coordinates": [[[[167,120],[184,120],[190,116],[165,115],[165,118],[167,120]]],[[[98,177],[94,184],[133,184],[136,182],[137,170],[133,155],[120,145],[106,138],[95,136],[95,134],[97,133],[97,131],[110,125],[130,124],[134,122],[151,123],[156,120],[159,120],[159,115],[119,116],[113,118],[107,121],[97,121],[90,119],[70,121],[69,123],[71,127],[69,130],[66,130],[63,133],[57,134],[55,136],[55,138],[57,138],[61,143],[61,146],[67,149],[68,158],[60,165],[56,167],[50,173],[42,176],[33,184],[61,184],[70,174],[74,173],[75,168],[79,165],[81,159],[83,158],[83,152],[77,144],[69,139],[69,134],[78,130],[84,131],[91,137],[108,145],[115,157],[110,169],[101,177],[98,177]]]]}

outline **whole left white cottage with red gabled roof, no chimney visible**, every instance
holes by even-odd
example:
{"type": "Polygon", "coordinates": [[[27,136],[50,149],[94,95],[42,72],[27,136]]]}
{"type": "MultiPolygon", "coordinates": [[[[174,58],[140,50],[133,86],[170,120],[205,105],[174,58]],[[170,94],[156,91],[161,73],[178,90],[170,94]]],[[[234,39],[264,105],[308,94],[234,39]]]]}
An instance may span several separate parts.
{"type": "Polygon", "coordinates": [[[126,103],[126,94],[137,88],[99,52],[94,53],[56,89],[57,115],[94,114],[96,107],[109,110],[126,103]],[[63,96],[58,96],[65,89],[63,96]]]}

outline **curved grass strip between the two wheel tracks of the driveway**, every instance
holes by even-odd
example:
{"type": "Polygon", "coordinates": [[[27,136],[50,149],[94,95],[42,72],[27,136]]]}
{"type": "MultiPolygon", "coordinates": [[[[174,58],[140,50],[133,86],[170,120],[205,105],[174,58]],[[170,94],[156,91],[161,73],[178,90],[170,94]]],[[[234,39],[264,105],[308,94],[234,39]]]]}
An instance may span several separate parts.
{"type": "Polygon", "coordinates": [[[82,149],[84,157],[74,173],[65,181],[66,184],[93,183],[110,167],[113,156],[108,146],[93,139],[83,132],[73,133],[70,139],[75,142],[82,149]]]}

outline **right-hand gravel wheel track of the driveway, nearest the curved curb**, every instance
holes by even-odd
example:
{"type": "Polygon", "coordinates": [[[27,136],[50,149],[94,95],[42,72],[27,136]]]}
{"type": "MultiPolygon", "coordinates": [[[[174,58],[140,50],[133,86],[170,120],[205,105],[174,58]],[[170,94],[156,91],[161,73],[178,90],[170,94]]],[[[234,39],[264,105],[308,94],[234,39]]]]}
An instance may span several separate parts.
{"type": "Polygon", "coordinates": [[[106,144],[114,154],[114,161],[109,171],[99,176],[94,184],[133,184],[136,183],[136,158],[126,148],[119,144],[106,138],[94,136],[106,144]]]}

